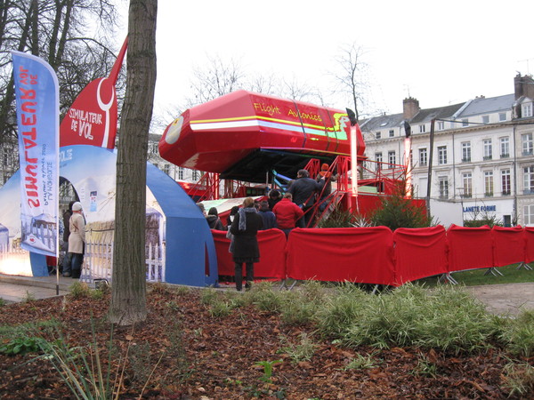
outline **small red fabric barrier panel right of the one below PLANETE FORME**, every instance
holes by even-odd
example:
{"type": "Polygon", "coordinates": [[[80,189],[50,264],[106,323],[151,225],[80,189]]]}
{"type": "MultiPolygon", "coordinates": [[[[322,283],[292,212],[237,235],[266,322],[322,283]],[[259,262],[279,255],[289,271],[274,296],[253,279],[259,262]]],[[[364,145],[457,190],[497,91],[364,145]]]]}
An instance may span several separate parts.
{"type": "Polygon", "coordinates": [[[492,234],[495,267],[525,260],[525,235],[522,227],[493,227],[492,234]]]}

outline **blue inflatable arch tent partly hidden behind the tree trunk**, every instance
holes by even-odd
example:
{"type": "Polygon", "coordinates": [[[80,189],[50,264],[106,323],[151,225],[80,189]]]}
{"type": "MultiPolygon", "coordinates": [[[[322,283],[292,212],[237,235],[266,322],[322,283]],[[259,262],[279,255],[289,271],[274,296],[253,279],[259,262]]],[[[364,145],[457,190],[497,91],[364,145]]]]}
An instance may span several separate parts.
{"type": "MultiPolygon", "coordinates": [[[[77,191],[87,222],[114,220],[116,152],[93,146],[67,146],[60,149],[60,160],[60,176],[69,180],[77,191]]],[[[0,198],[9,196],[10,202],[20,204],[19,185],[20,174],[16,173],[0,190],[0,198]],[[9,192],[4,190],[8,188],[11,188],[9,192]]],[[[164,215],[166,283],[198,287],[216,285],[214,239],[197,204],[180,185],[150,163],[147,163],[147,187],[164,215]]],[[[147,194],[149,198],[151,196],[147,194]]],[[[152,204],[148,205],[150,208],[152,204]]],[[[30,260],[34,276],[47,274],[44,256],[31,253],[30,260]]]]}

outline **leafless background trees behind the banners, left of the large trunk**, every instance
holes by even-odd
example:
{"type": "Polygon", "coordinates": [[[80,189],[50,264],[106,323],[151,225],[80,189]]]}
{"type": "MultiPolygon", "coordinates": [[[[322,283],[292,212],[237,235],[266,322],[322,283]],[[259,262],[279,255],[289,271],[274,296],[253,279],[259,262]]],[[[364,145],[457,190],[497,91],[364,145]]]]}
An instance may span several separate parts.
{"type": "Polygon", "coordinates": [[[65,113],[86,84],[109,74],[116,59],[116,45],[110,44],[116,28],[111,0],[0,0],[0,178],[7,180],[18,169],[11,51],[48,61],[58,76],[65,113]]]}

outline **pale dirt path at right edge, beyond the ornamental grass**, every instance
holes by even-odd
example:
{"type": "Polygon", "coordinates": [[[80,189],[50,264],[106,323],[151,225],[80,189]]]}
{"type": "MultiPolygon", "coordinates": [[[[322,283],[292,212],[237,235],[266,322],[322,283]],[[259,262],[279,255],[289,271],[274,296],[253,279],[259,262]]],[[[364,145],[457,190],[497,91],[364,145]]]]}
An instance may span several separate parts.
{"type": "Polygon", "coordinates": [[[494,314],[515,316],[521,308],[534,308],[534,283],[486,284],[467,286],[465,290],[472,292],[494,314]]]}

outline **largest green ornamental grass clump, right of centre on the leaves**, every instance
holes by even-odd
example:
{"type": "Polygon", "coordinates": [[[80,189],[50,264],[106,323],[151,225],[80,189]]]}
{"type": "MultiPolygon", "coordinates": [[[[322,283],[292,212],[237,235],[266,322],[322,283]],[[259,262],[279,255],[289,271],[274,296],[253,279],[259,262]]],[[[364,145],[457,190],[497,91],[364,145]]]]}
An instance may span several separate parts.
{"type": "Polygon", "coordinates": [[[342,291],[318,313],[319,332],[350,348],[417,346],[460,353],[488,348],[498,335],[491,316],[461,288],[411,284],[378,295],[342,291]]]}

